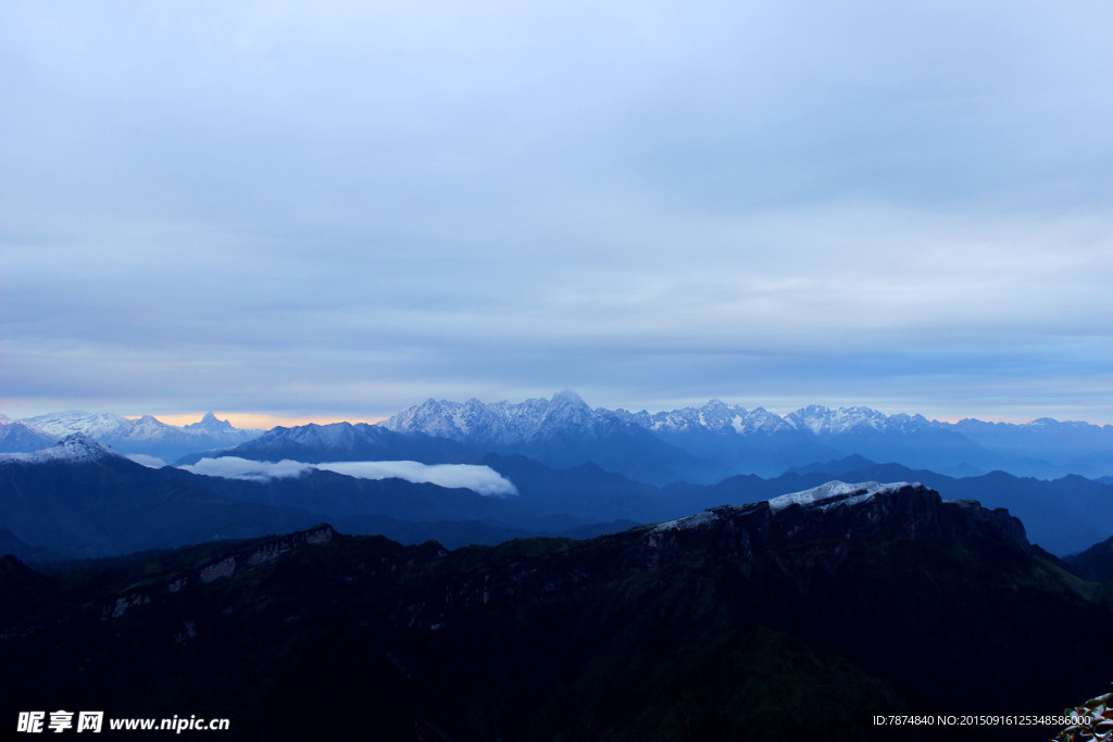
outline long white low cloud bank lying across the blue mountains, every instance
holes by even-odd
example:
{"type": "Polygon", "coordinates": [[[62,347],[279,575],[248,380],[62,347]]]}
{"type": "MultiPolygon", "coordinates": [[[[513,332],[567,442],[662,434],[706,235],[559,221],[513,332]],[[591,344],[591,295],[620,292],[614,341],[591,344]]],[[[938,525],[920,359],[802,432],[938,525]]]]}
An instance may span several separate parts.
{"type": "Polygon", "coordinates": [[[303,464],[280,462],[253,462],[236,456],[203,458],[196,464],[180,466],[187,472],[226,479],[266,482],[274,478],[302,476],[309,469],[335,472],[358,479],[387,479],[396,477],[406,482],[429,483],[441,487],[463,487],[487,497],[510,497],[518,494],[514,484],[490,466],[473,464],[420,464],[417,462],[332,462],[303,464]]]}

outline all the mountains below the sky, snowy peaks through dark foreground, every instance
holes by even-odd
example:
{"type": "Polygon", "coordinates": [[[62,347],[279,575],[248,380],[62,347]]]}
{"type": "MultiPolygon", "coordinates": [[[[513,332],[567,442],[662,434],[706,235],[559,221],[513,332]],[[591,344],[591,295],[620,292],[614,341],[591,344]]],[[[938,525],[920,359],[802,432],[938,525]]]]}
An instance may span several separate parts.
{"type": "Polygon", "coordinates": [[[1113,667],[1110,426],[568,392],[266,433],[121,421],[0,419],[30,448],[0,454],[0,719],[1034,741],[1055,725],[874,720],[1051,716],[1113,667]]]}

